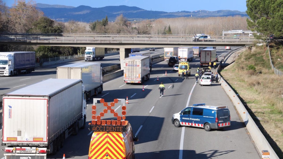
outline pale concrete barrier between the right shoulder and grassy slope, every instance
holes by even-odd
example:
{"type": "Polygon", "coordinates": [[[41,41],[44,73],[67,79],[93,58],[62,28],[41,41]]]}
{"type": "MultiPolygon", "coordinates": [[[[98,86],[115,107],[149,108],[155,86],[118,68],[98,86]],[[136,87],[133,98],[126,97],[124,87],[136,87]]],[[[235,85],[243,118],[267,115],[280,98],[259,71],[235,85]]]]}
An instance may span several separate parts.
{"type": "MultiPolygon", "coordinates": [[[[219,69],[220,69],[220,67],[218,65],[217,72],[218,72],[219,69]]],[[[238,95],[233,91],[233,89],[228,85],[228,83],[222,78],[222,76],[220,76],[220,77],[221,78],[220,78],[219,82],[220,82],[222,88],[224,89],[226,94],[230,97],[234,106],[236,107],[237,111],[239,112],[240,117],[241,117],[242,121],[245,123],[246,128],[247,128],[248,132],[250,133],[250,136],[252,137],[252,140],[254,141],[258,151],[261,152],[262,150],[268,150],[269,153],[270,153],[271,159],[279,159],[279,157],[277,156],[277,154],[275,153],[273,148],[268,143],[265,136],[263,136],[260,129],[258,128],[256,123],[254,122],[254,120],[252,119],[252,117],[250,116],[248,111],[246,110],[245,106],[243,105],[243,103],[239,99],[238,95]]]]}

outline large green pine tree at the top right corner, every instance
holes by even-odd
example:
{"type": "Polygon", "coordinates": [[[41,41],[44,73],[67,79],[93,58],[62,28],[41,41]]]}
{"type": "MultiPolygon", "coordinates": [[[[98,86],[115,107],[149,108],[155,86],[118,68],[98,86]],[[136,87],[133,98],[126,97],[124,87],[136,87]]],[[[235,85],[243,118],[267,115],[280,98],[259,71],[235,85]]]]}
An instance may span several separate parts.
{"type": "Polygon", "coordinates": [[[248,27],[265,36],[283,35],[283,1],[282,0],[247,0],[248,27]]]}

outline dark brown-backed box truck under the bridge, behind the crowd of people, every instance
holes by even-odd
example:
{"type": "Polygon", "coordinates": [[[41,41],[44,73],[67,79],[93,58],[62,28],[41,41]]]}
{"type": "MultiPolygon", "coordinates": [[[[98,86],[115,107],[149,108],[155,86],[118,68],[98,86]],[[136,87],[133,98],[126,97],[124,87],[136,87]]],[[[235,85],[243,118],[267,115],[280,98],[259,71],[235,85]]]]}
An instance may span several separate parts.
{"type": "Polygon", "coordinates": [[[200,51],[200,66],[209,66],[209,62],[218,62],[216,57],[216,49],[203,49],[200,51]]]}

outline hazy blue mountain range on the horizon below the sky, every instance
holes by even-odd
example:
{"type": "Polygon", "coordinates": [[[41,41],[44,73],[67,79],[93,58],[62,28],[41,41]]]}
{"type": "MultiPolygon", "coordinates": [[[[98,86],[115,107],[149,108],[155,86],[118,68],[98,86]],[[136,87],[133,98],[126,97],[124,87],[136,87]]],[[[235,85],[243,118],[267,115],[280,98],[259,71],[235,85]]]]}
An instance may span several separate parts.
{"type": "Polygon", "coordinates": [[[227,17],[227,16],[244,16],[248,15],[246,12],[238,10],[197,10],[197,11],[178,11],[178,12],[164,12],[145,10],[138,7],[121,6],[106,6],[101,8],[92,8],[89,6],[81,5],[78,7],[64,6],[64,5],[48,5],[37,3],[36,7],[44,12],[44,15],[50,19],[59,22],[68,22],[70,20],[79,22],[95,22],[102,20],[106,16],[108,21],[115,21],[116,17],[123,14],[130,21],[146,20],[146,19],[159,19],[159,18],[178,18],[178,17],[192,17],[192,18],[205,18],[205,17],[227,17]]]}

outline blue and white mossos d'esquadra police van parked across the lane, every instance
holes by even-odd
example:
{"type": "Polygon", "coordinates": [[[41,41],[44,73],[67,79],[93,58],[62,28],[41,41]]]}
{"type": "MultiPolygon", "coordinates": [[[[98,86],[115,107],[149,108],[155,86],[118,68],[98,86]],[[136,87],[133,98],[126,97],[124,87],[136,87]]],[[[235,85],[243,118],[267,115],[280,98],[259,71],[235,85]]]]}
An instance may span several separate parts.
{"type": "Polygon", "coordinates": [[[227,106],[207,106],[205,104],[193,104],[186,107],[172,117],[172,124],[176,127],[194,126],[211,129],[223,129],[231,125],[230,111],[227,106]]]}

